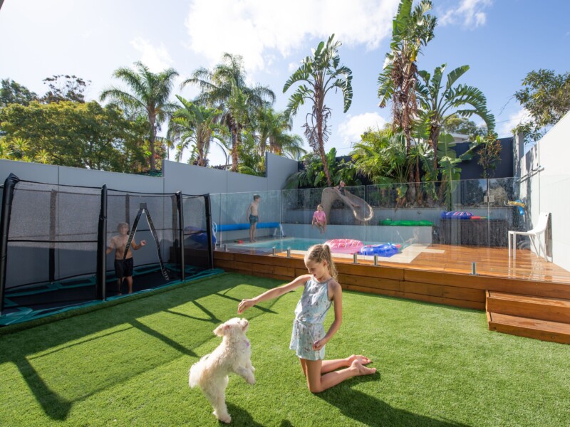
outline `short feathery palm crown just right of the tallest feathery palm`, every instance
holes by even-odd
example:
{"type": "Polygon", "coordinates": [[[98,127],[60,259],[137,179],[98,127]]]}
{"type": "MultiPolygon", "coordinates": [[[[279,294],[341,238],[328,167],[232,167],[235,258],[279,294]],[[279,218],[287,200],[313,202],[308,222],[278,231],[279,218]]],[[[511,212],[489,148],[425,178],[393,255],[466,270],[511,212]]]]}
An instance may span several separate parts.
{"type": "Polygon", "coordinates": [[[276,112],[272,107],[257,110],[255,128],[259,142],[259,154],[265,157],[269,151],[278,156],[300,159],[306,154],[303,139],[299,135],[291,135],[291,120],[284,112],[276,112]]]}

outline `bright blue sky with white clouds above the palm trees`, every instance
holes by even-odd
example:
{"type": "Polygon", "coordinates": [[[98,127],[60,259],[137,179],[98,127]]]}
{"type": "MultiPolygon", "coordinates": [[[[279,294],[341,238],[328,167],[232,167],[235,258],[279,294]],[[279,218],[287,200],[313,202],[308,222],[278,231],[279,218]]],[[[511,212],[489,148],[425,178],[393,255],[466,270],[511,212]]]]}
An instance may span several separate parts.
{"type": "MultiPolygon", "coordinates": [[[[570,2],[566,0],[433,0],[439,25],[418,60],[420,69],[447,63],[470,65],[459,80],[487,96],[500,137],[524,120],[512,98],[531,70],[570,70],[570,2]]],[[[341,61],[353,70],[351,109],[342,112],[332,93],[332,135],[327,149],[348,154],[367,127],[390,120],[380,110],[377,78],[388,51],[398,0],[4,0],[0,9],[0,78],[12,78],[43,94],[43,78],[75,74],[91,80],[97,99],[118,84],[113,70],[142,60],[152,70],[175,68],[186,78],[212,67],[222,53],[244,57],[250,83],[269,85],[283,110],[283,84],[299,60],[331,33],[343,42],[341,61]],[[350,6],[349,6],[350,5],[350,6]]],[[[193,88],[175,93],[192,98],[193,88]]],[[[299,112],[294,132],[309,107],[299,112]]],[[[475,117],[473,120],[479,123],[475,117]]],[[[217,148],[213,164],[223,162],[217,148]]]]}

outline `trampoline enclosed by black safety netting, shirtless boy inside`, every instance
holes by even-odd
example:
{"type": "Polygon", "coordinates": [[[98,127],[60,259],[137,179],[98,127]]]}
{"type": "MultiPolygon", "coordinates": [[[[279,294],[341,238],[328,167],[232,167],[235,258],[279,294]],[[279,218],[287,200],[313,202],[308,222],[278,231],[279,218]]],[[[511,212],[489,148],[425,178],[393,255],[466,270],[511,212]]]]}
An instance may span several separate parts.
{"type": "Polygon", "coordinates": [[[0,325],[207,274],[213,268],[207,209],[207,195],[9,176],[2,194],[0,325]]]}

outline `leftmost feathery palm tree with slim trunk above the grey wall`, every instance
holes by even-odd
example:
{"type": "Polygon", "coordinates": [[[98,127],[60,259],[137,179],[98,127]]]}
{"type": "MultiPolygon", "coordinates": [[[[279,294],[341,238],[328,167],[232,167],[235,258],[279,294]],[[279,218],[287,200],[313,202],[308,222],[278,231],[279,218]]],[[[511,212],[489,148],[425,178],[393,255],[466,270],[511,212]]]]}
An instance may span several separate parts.
{"type": "Polygon", "coordinates": [[[119,88],[103,90],[100,100],[107,98],[118,102],[135,115],[145,115],[149,125],[150,169],[156,169],[156,134],[160,124],[170,116],[177,105],[169,102],[174,78],[178,75],[174,68],[167,68],[160,73],[152,73],[141,62],[135,63],[135,70],[118,68],[113,73],[115,78],[123,80],[130,88],[130,93],[119,88]]]}

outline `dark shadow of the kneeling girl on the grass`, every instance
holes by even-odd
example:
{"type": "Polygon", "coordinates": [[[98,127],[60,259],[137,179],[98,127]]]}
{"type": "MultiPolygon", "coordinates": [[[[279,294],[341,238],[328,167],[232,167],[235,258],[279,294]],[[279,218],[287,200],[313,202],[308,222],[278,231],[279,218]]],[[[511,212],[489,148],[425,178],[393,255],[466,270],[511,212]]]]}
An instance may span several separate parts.
{"type": "Polygon", "coordinates": [[[380,381],[380,373],[357,377],[350,381],[350,384],[338,384],[316,396],[336,406],[343,415],[366,426],[467,427],[467,424],[443,421],[394,408],[384,401],[351,388],[354,384],[368,381],[380,381]]]}

